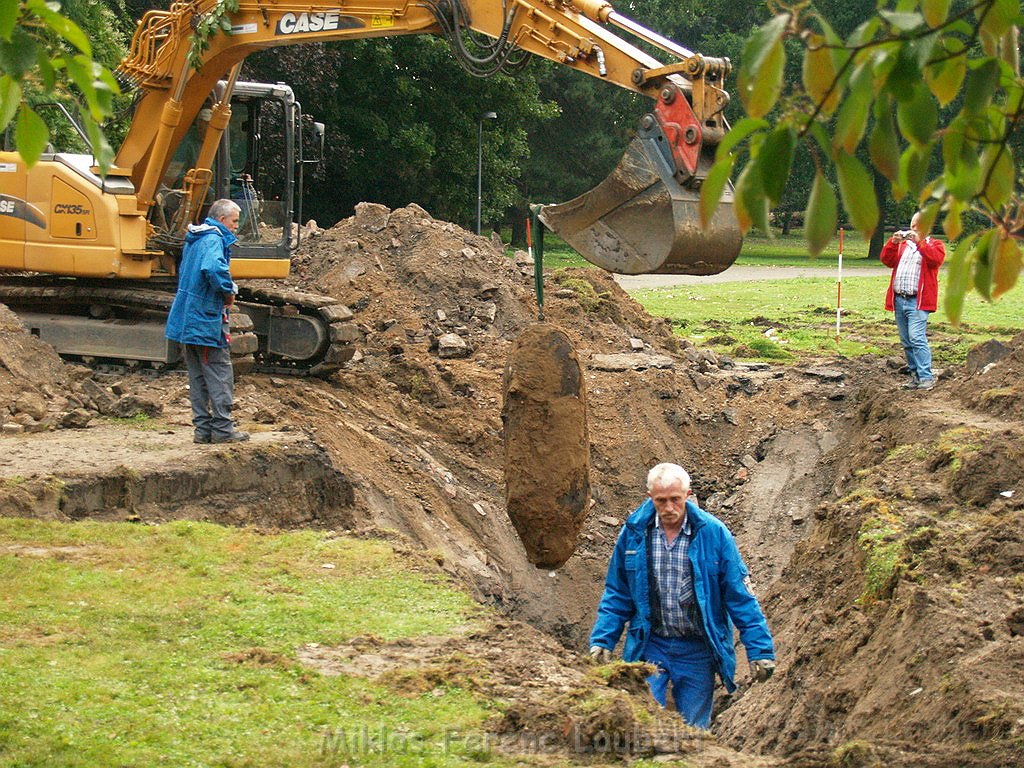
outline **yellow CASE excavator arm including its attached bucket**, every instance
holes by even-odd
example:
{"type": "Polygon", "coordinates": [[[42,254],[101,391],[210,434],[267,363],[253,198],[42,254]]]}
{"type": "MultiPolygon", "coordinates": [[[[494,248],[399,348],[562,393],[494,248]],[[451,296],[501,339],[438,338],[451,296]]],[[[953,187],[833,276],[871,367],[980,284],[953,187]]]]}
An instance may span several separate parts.
{"type": "Polygon", "coordinates": [[[148,210],[173,148],[228,75],[188,182],[190,197],[200,200],[208,176],[204,169],[230,115],[230,83],[248,54],[279,45],[411,34],[445,37],[476,75],[515,66],[525,51],[652,98],[653,112],[641,121],[640,133],[608,179],[569,203],[546,206],[542,219],[610,271],[710,274],[735,259],[741,241],[731,190],[707,229],[697,215],[700,182],[728,128],[722,115],[728,59],[694,54],[604,0],[189,0],[147,11],[119,68],[142,96],[116,172],[131,177],[139,211],[148,210]],[[194,30],[210,14],[223,32],[194,50],[194,30]],[[659,48],[670,60],[648,55],[613,28],[659,48]],[[467,32],[492,42],[470,49],[467,32]]]}

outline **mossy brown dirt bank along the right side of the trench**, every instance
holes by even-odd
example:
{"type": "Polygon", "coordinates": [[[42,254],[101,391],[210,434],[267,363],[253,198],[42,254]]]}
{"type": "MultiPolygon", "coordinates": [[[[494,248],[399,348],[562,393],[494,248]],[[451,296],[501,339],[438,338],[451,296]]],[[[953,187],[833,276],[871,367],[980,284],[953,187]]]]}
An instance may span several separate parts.
{"type": "Polygon", "coordinates": [[[814,530],[765,595],[781,674],[722,716],[729,742],[839,765],[1021,763],[1024,425],[959,402],[990,375],[858,393],[814,530]]]}

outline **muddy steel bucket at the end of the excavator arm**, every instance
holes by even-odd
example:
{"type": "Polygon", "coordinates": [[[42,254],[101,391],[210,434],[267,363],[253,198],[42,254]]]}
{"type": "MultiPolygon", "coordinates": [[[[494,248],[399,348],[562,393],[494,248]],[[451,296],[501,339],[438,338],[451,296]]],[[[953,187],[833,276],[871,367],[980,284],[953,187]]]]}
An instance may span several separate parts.
{"type": "MultiPolygon", "coordinates": [[[[590,191],[544,206],[541,220],[593,264],[618,274],[717,274],[742,245],[727,185],[714,218],[700,226],[699,186],[677,180],[665,134],[644,130],[618,165],[590,191]]],[[[703,178],[714,147],[703,146],[693,178],[703,178]]]]}

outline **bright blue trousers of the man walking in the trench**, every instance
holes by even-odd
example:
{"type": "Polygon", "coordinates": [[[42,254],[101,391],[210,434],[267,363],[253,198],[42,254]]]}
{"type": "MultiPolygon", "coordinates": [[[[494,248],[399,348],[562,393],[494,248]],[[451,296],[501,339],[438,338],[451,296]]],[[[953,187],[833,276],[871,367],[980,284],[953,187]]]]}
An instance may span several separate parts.
{"type": "Polygon", "coordinates": [[[702,637],[651,635],[644,660],[657,667],[647,678],[654,699],[665,707],[671,682],[672,698],[683,720],[697,728],[710,728],[716,666],[708,641],[702,637]]]}

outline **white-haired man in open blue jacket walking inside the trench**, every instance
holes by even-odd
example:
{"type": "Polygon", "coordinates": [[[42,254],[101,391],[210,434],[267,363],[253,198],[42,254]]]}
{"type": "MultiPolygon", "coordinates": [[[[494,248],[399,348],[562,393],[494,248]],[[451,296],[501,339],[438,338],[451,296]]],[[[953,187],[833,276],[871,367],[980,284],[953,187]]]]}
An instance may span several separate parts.
{"type": "Polygon", "coordinates": [[[708,728],[716,673],[729,692],[736,688],[733,625],[756,681],[775,670],[771,633],[732,535],[689,498],[686,471],[658,464],[647,492],[611,554],[590,655],[610,660],[629,623],[623,658],[654,665],[647,683],[657,702],[666,706],[671,682],[683,719],[708,728]]]}

